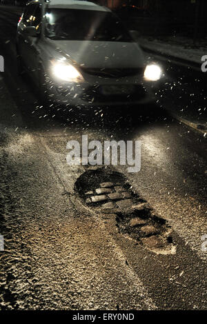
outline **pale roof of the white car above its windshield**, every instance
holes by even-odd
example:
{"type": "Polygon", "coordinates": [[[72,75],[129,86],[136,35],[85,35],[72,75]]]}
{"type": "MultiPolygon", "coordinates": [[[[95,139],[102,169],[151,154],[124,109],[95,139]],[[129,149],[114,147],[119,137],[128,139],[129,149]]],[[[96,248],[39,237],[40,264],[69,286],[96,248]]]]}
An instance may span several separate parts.
{"type": "Polygon", "coordinates": [[[65,8],[65,9],[81,9],[81,10],[97,10],[110,12],[110,9],[99,6],[96,3],[90,1],[79,0],[50,0],[47,1],[49,8],[65,8]]]}

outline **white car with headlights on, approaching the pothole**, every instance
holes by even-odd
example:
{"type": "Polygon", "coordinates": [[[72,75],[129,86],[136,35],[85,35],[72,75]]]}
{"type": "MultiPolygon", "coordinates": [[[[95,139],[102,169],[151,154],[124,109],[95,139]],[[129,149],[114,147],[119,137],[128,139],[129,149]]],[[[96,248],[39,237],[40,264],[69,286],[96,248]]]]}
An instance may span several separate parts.
{"type": "Polygon", "coordinates": [[[18,23],[17,59],[41,99],[68,110],[151,103],[162,74],[146,66],[120,19],[90,1],[30,1],[18,23]]]}

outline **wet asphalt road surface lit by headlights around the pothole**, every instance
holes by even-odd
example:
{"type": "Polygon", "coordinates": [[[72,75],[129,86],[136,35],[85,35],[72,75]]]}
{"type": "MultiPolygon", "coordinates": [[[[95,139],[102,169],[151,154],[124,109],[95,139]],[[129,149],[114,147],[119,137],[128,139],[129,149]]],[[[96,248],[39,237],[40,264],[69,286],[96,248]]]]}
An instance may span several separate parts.
{"type": "Polygon", "coordinates": [[[205,134],[164,113],[137,125],[103,111],[90,120],[48,114],[17,75],[17,20],[0,7],[0,309],[206,310],[205,134]],[[67,142],[84,134],[141,141],[141,171],[68,165],[67,142]],[[101,181],[147,207],[87,203],[84,190],[101,181]],[[131,215],[153,224],[163,245],[140,236],[131,215]]]}

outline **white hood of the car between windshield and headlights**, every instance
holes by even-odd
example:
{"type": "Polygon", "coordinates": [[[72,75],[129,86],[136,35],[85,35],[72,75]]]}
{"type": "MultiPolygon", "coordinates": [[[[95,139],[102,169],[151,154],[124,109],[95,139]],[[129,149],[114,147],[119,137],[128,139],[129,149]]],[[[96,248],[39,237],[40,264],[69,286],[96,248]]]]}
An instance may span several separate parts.
{"type": "Polygon", "coordinates": [[[55,52],[85,68],[142,68],[144,66],[142,51],[134,42],[49,40],[49,43],[55,52]]]}

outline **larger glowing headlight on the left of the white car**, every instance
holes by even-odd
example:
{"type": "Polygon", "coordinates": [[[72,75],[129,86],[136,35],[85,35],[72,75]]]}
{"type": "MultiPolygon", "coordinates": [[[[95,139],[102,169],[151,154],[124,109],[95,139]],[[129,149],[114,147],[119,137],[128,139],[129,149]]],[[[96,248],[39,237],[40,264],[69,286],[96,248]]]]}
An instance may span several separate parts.
{"type": "Polygon", "coordinates": [[[73,65],[62,60],[52,61],[52,74],[63,81],[83,82],[81,73],[73,65]]]}

